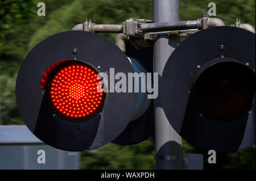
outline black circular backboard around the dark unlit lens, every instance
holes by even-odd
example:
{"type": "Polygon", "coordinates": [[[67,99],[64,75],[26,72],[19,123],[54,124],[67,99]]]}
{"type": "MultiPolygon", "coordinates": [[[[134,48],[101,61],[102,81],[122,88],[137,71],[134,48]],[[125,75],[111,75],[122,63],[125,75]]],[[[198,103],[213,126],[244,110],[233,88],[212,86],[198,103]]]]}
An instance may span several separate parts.
{"type": "MultiPolygon", "coordinates": [[[[221,74],[216,71],[214,74],[221,74]]],[[[244,71],[233,71],[237,78],[242,72],[244,71]]],[[[205,86],[209,84],[206,82],[205,86]]],[[[189,36],[168,59],[159,87],[167,119],[185,140],[206,150],[224,152],[242,150],[255,144],[254,33],[224,26],[208,28],[189,36]],[[254,98],[250,108],[231,119],[211,117],[202,112],[196,102],[197,79],[206,70],[221,62],[228,62],[228,66],[222,66],[227,72],[233,70],[233,64],[236,63],[243,67],[242,70],[250,71],[252,76],[250,87],[254,89],[254,98]]],[[[220,114],[222,115],[225,113],[220,114]]]]}

